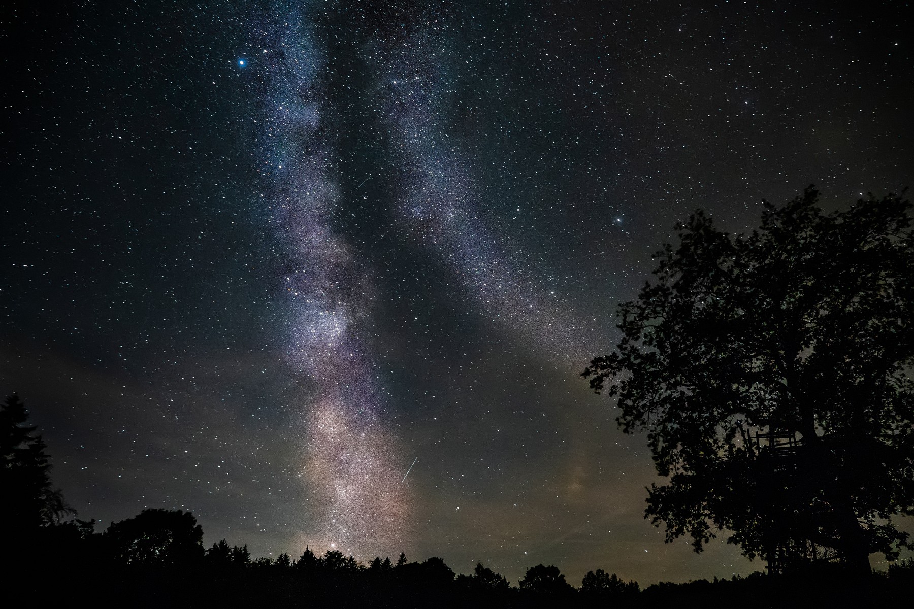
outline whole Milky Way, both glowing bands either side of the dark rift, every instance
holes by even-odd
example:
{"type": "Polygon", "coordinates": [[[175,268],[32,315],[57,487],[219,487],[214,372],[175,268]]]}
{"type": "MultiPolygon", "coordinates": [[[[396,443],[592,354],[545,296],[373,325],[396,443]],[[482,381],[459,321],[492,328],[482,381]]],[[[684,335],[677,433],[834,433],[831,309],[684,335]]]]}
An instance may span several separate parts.
{"type": "MultiPolygon", "coordinates": [[[[327,50],[319,25],[307,8],[260,24],[269,46],[261,60],[270,79],[263,129],[271,142],[262,171],[273,184],[271,223],[288,268],[288,362],[312,386],[303,404],[303,473],[324,506],[306,513],[319,520],[322,536],[315,542],[361,552],[399,539],[409,526],[408,489],[395,484],[404,456],[386,425],[385,379],[374,373],[369,362],[375,358],[359,335],[359,320],[373,314],[376,287],[370,265],[333,228],[343,194],[335,137],[324,128],[325,115],[335,109],[326,101],[327,50]]],[[[567,298],[543,288],[505,252],[484,221],[473,174],[478,161],[442,129],[453,95],[448,25],[446,15],[429,11],[394,34],[370,31],[361,47],[399,176],[388,215],[451,269],[452,282],[498,331],[576,369],[579,361],[569,357],[588,352],[592,327],[567,298]]]]}

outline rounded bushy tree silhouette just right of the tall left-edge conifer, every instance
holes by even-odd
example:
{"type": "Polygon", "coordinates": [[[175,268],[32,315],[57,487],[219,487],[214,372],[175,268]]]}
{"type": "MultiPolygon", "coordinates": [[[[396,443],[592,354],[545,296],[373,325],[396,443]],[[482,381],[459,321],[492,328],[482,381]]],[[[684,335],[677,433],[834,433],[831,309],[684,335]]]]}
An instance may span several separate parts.
{"type": "Polygon", "coordinates": [[[104,536],[125,564],[181,565],[203,557],[203,529],[192,513],[180,509],[143,509],[112,522],[104,536]]]}

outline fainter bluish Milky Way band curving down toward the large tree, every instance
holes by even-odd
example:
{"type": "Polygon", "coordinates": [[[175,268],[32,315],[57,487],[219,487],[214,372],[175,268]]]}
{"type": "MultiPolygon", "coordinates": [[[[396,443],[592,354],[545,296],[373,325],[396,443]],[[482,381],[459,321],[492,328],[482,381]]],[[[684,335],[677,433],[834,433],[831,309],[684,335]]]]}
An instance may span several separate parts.
{"type": "Polygon", "coordinates": [[[547,289],[520,252],[505,247],[506,229],[486,223],[490,202],[477,178],[480,160],[447,133],[456,96],[456,54],[447,37],[452,20],[427,11],[397,36],[369,46],[377,107],[399,163],[399,226],[452,269],[452,280],[498,331],[568,364],[570,353],[588,352],[606,337],[595,336],[568,295],[547,289]]]}

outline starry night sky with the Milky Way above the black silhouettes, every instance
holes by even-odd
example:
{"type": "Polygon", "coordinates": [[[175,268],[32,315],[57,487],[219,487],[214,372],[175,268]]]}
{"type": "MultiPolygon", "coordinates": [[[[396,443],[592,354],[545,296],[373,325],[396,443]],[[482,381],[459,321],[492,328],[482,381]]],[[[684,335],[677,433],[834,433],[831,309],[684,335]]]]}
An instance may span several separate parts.
{"type": "Polygon", "coordinates": [[[696,207],[910,184],[910,6],[848,4],[5,3],[0,391],[103,525],[760,570],[664,544],[579,373],[696,207]]]}

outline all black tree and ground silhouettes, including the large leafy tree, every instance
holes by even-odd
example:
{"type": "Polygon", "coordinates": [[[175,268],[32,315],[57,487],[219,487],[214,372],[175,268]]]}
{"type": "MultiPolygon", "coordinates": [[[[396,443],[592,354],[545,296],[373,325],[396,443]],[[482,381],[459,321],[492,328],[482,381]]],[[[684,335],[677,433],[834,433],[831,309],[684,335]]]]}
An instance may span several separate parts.
{"type": "MultiPolygon", "coordinates": [[[[0,408],[5,598],[101,606],[800,607],[909,603],[914,513],[914,236],[889,195],[825,215],[818,192],[766,205],[731,237],[700,210],[677,227],[622,341],[583,375],[646,431],[665,486],[645,517],[696,551],[717,532],[768,572],[642,588],[602,569],[578,586],[537,564],[512,585],[482,563],[337,550],[253,558],[208,548],[193,513],[143,509],[96,530],[54,488],[47,446],[18,395],[0,408]],[[882,552],[887,572],[871,572],[882,552]]],[[[297,552],[296,552],[297,553],[297,552]]]]}

